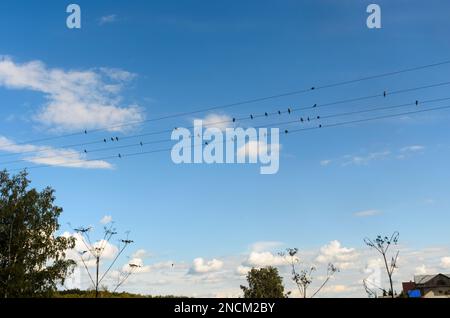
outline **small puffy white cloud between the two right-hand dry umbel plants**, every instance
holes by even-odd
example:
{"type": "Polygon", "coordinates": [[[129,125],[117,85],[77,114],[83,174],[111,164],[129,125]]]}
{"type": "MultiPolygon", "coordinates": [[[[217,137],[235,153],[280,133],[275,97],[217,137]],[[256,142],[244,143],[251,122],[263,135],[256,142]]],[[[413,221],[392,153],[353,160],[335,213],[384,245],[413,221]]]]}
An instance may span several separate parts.
{"type": "Polygon", "coordinates": [[[339,241],[331,241],[320,248],[316,261],[319,263],[333,263],[340,269],[352,267],[353,261],[358,257],[355,249],[346,248],[339,241]]]}

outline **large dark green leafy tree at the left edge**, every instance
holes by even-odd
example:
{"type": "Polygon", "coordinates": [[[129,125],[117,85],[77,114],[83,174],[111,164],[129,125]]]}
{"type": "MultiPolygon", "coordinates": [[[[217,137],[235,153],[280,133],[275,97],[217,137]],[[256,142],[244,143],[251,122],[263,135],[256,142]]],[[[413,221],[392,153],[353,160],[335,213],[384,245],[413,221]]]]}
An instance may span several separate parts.
{"type": "Polygon", "coordinates": [[[72,238],[56,236],[62,208],[54,204],[54,190],[29,189],[23,171],[0,172],[0,295],[48,297],[63,284],[75,262],[65,251],[72,238]]]}

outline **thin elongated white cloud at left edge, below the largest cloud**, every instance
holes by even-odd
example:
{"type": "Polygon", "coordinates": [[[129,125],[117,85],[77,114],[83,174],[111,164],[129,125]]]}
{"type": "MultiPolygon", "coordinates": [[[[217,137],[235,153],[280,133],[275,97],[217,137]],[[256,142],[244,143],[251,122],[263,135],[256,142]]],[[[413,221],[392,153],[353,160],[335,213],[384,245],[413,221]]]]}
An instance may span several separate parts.
{"type": "Polygon", "coordinates": [[[17,144],[11,139],[0,136],[0,151],[21,154],[22,160],[38,165],[66,168],[112,169],[113,166],[103,160],[89,160],[85,154],[72,149],[57,149],[48,146],[17,144]]]}

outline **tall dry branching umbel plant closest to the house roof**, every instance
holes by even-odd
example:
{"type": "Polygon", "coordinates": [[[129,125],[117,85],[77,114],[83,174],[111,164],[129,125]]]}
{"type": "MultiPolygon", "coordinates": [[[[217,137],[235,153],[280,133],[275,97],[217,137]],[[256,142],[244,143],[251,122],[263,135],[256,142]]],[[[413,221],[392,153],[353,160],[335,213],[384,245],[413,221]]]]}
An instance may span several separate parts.
{"type": "Polygon", "coordinates": [[[399,236],[400,234],[398,232],[394,232],[391,235],[391,237],[388,236],[382,237],[381,235],[378,235],[374,240],[371,240],[369,238],[364,239],[364,243],[366,243],[367,246],[376,250],[383,257],[390,286],[390,289],[387,293],[384,290],[383,296],[385,296],[384,294],[386,294],[386,296],[389,295],[392,298],[395,298],[394,286],[392,283],[392,275],[394,274],[394,271],[397,268],[397,259],[399,251],[397,251],[397,253],[394,254],[395,256],[392,256],[391,262],[389,264],[387,258],[389,248],[391,247],[391,245],[397,245],[399,236]]]}

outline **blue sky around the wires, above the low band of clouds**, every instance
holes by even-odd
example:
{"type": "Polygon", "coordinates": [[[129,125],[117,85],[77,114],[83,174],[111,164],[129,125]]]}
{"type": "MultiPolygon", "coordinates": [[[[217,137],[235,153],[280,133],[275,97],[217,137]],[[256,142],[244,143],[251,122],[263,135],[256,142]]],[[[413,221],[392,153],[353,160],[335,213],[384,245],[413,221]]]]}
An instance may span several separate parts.
{"type": "MultiPolygon", "coordinates": [[[[80,83],[70,77],[71,70],[84,72],[83,76],[102,74],[102,79],[95,77],[94,83],[80,84],[68,92],[95,95],[81,103],[105,102],[114,105],[115,111],[126,109],[117,112],[116,123],[450,57],[450,5],[446,1],[378,1],[380,30],[366,27],[369,1],[77,3],[82,9],[81,30],[66,28],[69,3],[65,1],[0,4],[0,55],[6,56],[14,71],[21,72],[24,81],[14,86],[7,82],[13,75],[4,69],[1,73],[0,68],[0,136],[20,143],[108,123],[109,119],[95,112],[64,117],[58,108],[59,93],[40,78],[48,79],[55,70],[62,72],[61,77],[55,75],[60,79],[55,83],[67,80],[67,85],[80,83]],[[39,61],[39,66],[27,64],[32,61],[39,61]],[[23,65],[28,66],[21,68],[23,65]],[[116,77],[105,79],[108,74],[102,69],[114,70],[116,77]],[[119,73],[119,69],[127,73],[119,73]],[[104,91],[108,84],[119,85],[114,87],[113,97],[104,91]],[[49,107],[53,102],[56,108],[49,107]]],[[[449,81],[449,70],[450,65],[444,65],[214,113],[234,117],[430,85],[449,81]]],[[[450,97],[448,86],[317,112],[323,116],[344,109],[445,97],[450,97]]],[[[433,104],[441,105],[450,102],[433,104]]],[[[58,148],[190,126],[194,118],[206,115],[39,145],[58,148]]],[[[408,248],[446,247],[450,243],[448,119],[448,111],[431,112],[282,137],[280,171],[271,176],[260,175],[259,168],[252,165],[177,166],[169,153],[160,153],[112,160],[113,169],[53,167],[30,170],[30,177],[37,187],[56,189],[57,203],[64,208],[63,224],[99,227],[99,220],[111,215],[119,230],[131,231],[137,242],[134,249],[153,255],[146,260],[149,263],[238,257],[248,253],[255,242],[281,242],[269,245],[318,251],[338,240],[342,246],[360,249],[365,236],[395,230],[408,248]]],[[[21,158],[20,154],[0,161],[16,158],[21,158]]],[[[5,168],[25,166],[33,164],[22,162],[5,168]]],[[[417,266],[423,265],[419,263],[417,266]]],[[[199,290],[209,288],[199,286],[199,290]]]]}

